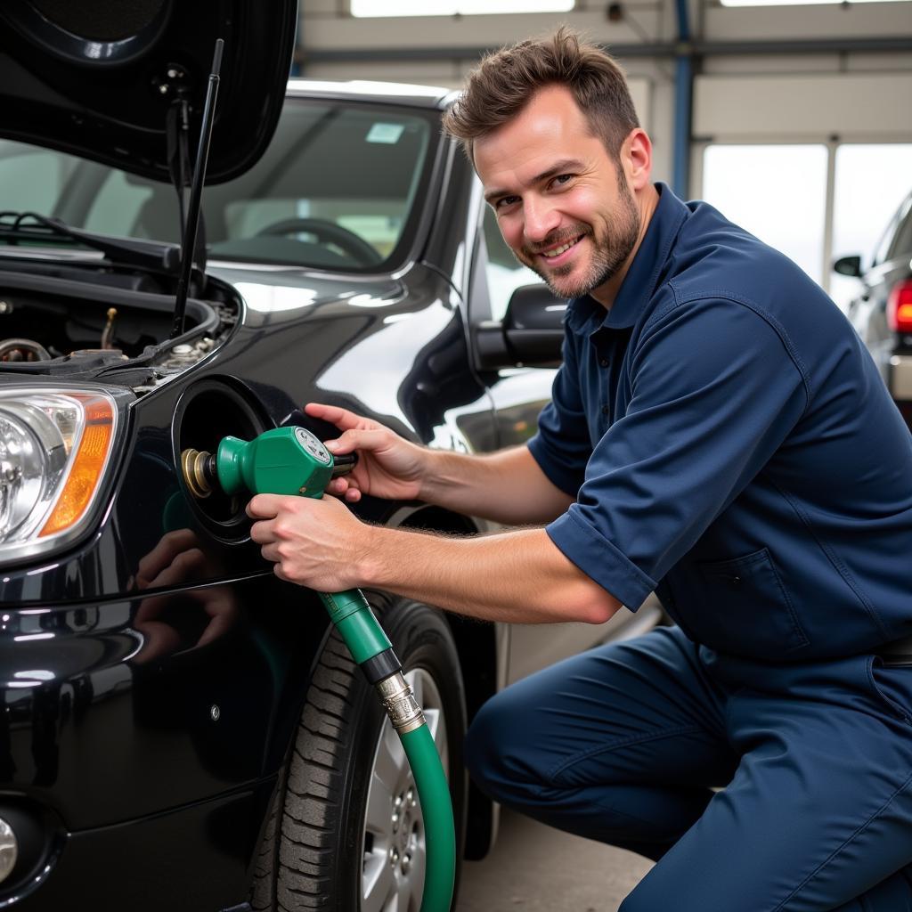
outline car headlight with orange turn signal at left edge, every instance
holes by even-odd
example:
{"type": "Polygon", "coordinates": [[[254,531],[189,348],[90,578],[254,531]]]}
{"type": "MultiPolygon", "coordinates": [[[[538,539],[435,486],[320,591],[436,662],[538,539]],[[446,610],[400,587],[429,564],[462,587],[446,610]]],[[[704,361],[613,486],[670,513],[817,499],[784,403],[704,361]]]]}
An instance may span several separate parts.
{"type": "Polygon", "coordinates": [[[0,560],[45,551],[81,531],[117,417],[101,391],[0,392],[0,560]]]}

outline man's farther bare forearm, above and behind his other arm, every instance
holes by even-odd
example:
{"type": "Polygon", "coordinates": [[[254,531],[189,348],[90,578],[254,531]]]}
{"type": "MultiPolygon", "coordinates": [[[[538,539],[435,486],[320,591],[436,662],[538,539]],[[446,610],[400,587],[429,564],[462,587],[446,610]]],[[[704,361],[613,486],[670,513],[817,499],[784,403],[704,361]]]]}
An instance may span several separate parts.
{"type": "Polygon", "coordinates": [[[483,456],[433,451],[421,496],[449,510],[510,525],[550,523],[573,503],[525,446],[483,456]]]}

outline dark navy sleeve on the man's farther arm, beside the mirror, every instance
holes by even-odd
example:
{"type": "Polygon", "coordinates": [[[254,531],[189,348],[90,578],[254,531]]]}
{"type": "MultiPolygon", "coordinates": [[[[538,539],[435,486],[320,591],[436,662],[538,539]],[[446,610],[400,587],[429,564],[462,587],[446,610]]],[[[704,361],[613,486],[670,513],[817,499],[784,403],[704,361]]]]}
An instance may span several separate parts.
{"type": "Polygon", "coordinates": [[[564,337],[564,360],[554,377],[551,401],[538,418],[538,431],[527,446],[536,462],[561,491],[576,496],[586,477],[592,440],[579,391],[574,346],[564,337]]]}

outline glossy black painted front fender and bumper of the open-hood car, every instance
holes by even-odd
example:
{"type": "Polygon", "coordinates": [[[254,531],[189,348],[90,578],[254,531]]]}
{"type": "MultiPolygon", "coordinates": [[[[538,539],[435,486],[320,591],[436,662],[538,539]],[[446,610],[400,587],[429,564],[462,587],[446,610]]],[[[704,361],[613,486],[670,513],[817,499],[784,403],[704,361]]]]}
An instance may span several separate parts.
{"type": "MultiPolygon", "coordinates": [[[[551,371],[473,367],[481,202],[461,152],[434,181],[415,259],[394,275],[213,264],[212,293],[241,316],[230,337],[135,391],[78,545],[0,570],[0,817],[26,802],[54,821],[44,880],[12,908],[246,899],[327,622],[249,541],[243,501],[190,498],[183,448],[283,424],[335,436],[303,414],[310,400],[458,451],[528,436],[551,371]]],[[[21,382],[0,372],[4,388],[21,382]]],[[[366,498],[357,512],[398,523],[417,508],[366,498]]],[[[14,880],[0,908],[21,895],[14,880]]]]}

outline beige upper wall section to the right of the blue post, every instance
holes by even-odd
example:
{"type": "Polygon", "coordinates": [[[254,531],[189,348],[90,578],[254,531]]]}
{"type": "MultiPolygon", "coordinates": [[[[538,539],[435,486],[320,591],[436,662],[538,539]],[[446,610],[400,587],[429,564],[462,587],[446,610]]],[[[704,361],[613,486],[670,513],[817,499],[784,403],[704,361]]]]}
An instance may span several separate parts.
{"type": "MultiPolygon", "coordinates": [[[[912,4],[709,6],[703,27],[718,43],[908,37],[912,4]]],[[[722,54],[706,57],[695,80],[693,134],[698,142],[908,142],[910,99],[912,53],[722,54]]]]}

